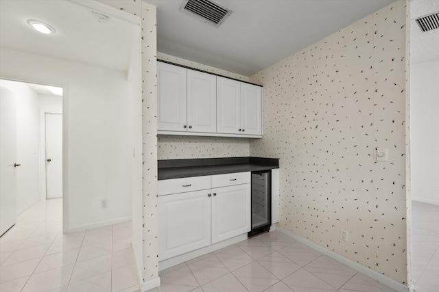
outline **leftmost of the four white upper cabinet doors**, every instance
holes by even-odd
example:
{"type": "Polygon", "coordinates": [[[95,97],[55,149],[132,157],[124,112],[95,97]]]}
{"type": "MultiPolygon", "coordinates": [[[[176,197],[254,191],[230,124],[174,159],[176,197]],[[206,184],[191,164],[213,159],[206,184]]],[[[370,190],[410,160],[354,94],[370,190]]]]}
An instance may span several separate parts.
{"type": "Polygon", "coordinates": [[[158,131],[187,131],[187,69],[157,63],[158,131]]]}

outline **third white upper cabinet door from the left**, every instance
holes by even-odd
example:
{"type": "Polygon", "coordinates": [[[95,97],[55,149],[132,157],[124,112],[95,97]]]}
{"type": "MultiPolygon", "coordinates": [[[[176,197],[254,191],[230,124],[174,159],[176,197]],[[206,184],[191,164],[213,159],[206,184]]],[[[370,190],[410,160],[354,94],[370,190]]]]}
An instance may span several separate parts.
{"type": "Polygon", "coordinates": [[[240,134],[241,82],[217,77],[217,133],[240,134]]]}

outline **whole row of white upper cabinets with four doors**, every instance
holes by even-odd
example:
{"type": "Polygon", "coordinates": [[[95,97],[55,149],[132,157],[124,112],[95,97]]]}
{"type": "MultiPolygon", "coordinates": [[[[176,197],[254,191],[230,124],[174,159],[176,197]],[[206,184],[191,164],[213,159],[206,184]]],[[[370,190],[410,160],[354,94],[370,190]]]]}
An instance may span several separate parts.
{"type": "Polygon", "coordinates": [[[157,62],[158,134],[262,136],[262,88],[157,62]]]}

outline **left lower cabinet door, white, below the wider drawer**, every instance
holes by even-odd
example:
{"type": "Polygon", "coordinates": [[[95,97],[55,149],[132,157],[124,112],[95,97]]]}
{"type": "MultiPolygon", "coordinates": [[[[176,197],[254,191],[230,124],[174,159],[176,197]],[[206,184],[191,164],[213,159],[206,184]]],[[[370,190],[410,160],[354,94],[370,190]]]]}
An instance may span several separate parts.
{"type": "Polygon", "coordinates": [[[210,190],[158,197],[158,261],[211,244],[210,190]]]}

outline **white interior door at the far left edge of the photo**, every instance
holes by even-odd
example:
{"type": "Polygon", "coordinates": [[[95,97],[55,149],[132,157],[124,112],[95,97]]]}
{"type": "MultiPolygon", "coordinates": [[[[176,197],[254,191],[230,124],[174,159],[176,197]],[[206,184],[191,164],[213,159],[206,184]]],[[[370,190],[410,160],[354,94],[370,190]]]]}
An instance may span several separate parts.
{"type": "Polygon", "coordinates": [[[16,222],[16,98],[0,87],[0,235],[16,222]]]}

